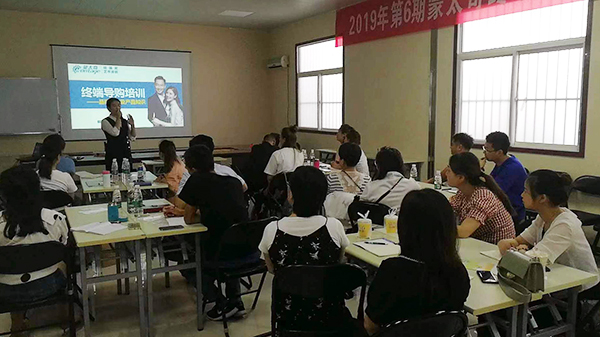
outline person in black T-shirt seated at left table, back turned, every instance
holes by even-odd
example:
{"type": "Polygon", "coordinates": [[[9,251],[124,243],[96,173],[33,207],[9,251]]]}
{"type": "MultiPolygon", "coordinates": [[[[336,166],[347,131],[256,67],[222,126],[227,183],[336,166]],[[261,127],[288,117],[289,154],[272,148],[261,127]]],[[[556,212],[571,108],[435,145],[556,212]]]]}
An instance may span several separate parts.
{"type": "MultiPolygon", "coordinates": [[[[191,173],[188,182],[179,194],[185,205],[185,223],[202,223],[208,228],[203,235],[204,260],[215,259],[221,236],[233,224],[248,220],[246,201],[240,182],[232,177],[215,173],[212,151],[204,145],[190,147],[184,155],[185,165],[191,173]]],[[[257,257],[258,258],[258,257],[257,257]]],[[[195,274],[192,271],[191,275],[195,274]]],[[[188,276],[189,273],[182,273],[188,276]]],[[[191,276],[189,275],[189,276],[191,276]]],[[[190,277],[188,278],[191,283],[190,277]]],[[[207,312],[211,320],[245,313],[240,297],[240,282],[234,280],[226,284],[227,299],[223,298],[215,286],[214,277],[203,273],[202,289],[208,301],[216,301],[216,306],[207,312]]]]}

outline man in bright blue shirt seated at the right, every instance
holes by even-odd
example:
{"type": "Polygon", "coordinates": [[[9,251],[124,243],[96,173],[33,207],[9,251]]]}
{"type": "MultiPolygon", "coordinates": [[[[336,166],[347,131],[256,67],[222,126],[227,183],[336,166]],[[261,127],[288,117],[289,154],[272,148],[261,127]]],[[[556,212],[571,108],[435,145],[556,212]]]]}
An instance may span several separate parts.
{"type": "Polygon", "coordinates": [[[525,206],[523,206],[523,190],[525,189],[525,180],[527,180],[527,171],[521,162],[513,156],[508,155],[510,140],[505,133],[492,132],[485,137],[483,147],[482,168],[486,161],[496,164],[490,174],[500,188],[510,199],[510,203],[517,212],[515,224],[519,224],[525,219],[525,206]],[[483,160],[485,159],[485,160],[483,160]]]}

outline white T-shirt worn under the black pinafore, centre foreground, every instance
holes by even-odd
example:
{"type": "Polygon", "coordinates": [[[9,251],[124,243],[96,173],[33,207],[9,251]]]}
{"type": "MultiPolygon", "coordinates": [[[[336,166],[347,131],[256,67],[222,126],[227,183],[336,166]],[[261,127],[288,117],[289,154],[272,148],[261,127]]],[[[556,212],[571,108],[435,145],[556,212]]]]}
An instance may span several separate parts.
{"type": "MultiPolygon", "coordinates": [[[[279,230],[288,235],[297,237],[309,236],[323,225],[325,225],[325,217],[321,215],[315,215],[309,218],[287,217],[279,220],[279,230]]],[[[275,240],[275,234],[277,234],[277,226],[278,222],[273,221],[265,227],[263,238],[258,245],[258,249],[261,251],[261,256],[263,258],[264,254],[269,254],[269,248],[271,248],[271,245],[275,240]]],[[[327,231],[338,247],[344,249],[350,244],[346,232],[344,231],[344,226],[339,220],[327,218],[327,231]]]]}

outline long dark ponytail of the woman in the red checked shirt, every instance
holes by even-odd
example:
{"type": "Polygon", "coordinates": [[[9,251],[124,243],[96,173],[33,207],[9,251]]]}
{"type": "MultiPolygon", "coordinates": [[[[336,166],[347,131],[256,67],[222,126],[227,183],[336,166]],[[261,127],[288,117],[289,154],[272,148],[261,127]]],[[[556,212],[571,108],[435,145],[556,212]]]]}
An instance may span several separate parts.
{"type": "Polygon", "coordinates": [[[494,178],[481,171],[479,159],[473,153],[458,153],[450,157],[450,169],[454,174],[465,177],[467,182],[472,186],[485,187],[492,191],[512,217],[517,215],[508,196],[498,186],[494,178]]]}

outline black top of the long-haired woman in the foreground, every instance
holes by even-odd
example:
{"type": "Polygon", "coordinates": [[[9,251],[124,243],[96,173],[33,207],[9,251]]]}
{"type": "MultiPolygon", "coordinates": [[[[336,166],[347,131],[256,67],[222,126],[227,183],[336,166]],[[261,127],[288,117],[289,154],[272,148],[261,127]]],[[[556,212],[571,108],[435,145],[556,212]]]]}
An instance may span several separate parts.
{"type": "Polygon", "coordinates": [[[425,264],[400,256],[381,264],[367,295],[369,318],[378,325],[441,310],[462,310],[471,282],[465,267],[426,275],[425,264]]]}

